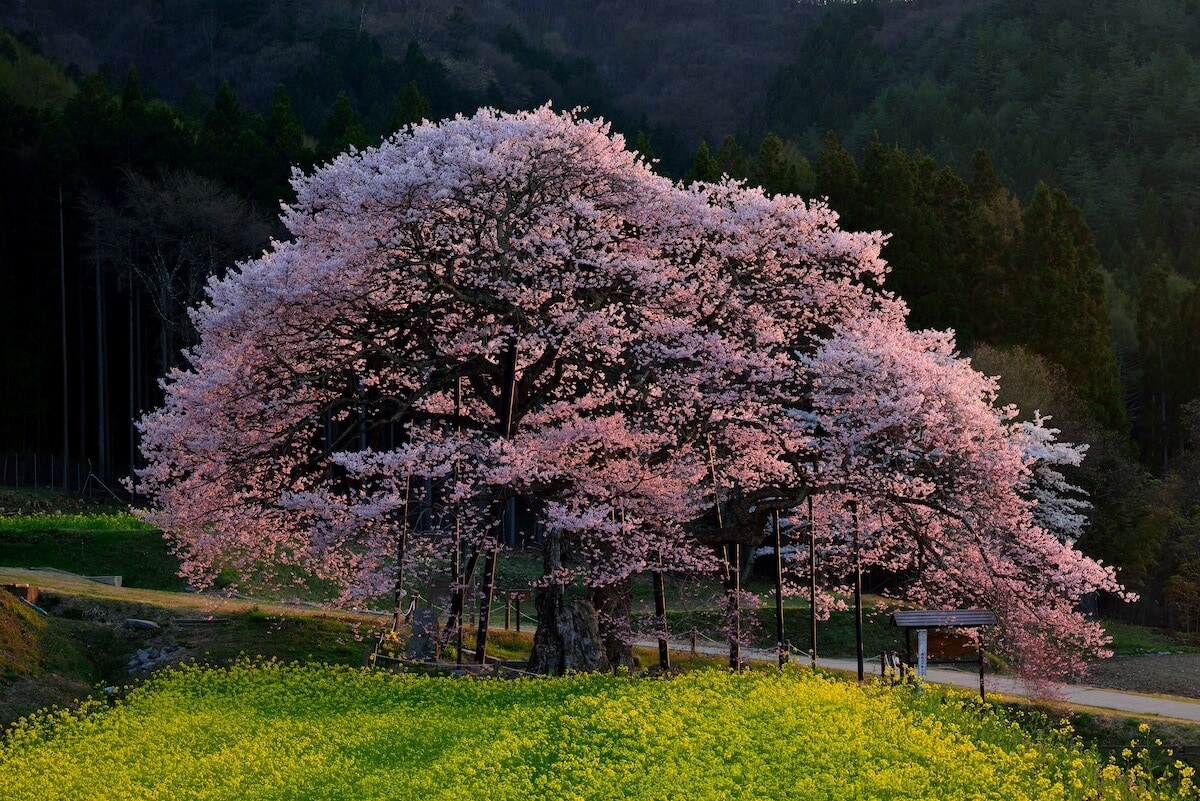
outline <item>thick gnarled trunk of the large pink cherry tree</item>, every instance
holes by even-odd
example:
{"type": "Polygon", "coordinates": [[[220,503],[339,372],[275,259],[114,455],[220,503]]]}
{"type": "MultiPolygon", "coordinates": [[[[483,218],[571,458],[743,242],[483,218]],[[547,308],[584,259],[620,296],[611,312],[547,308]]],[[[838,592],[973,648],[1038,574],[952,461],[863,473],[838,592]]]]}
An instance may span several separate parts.
{"type": "MultiPolygon", "coordinates": [[[[544,546],[545,574],[557,576],[563,565],[562,535],[552,531],[544,546]]],[[[566,588],[550,584],[534,596],[538,631],[533,636],[529,670],[563,675],[568,670],[587,673],[600,667],[600,632],[596,613],[586,598],[566,601],[566,588]]]]}

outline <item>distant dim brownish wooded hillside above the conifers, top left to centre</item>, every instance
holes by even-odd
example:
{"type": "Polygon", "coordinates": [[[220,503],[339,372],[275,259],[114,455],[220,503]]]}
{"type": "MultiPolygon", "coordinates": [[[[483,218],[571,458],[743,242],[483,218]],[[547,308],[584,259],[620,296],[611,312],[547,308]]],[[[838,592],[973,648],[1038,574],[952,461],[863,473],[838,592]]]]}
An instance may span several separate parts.
{"type": "Polygon", "coordinates": [[[690,147],[742,122],[820,12],[794,0],[8,0],[0,25],[82,72],[133,65],[170,101],[229,82],[263,112],[283,84],[311,125],[344,90],[379,132],[379,95],[415,79],[434,116],[467,98],[606,113],[616,100],[649,126],[674,122],[690,147]],[[440,74],[408,68],[412,44],[440,74]]]}

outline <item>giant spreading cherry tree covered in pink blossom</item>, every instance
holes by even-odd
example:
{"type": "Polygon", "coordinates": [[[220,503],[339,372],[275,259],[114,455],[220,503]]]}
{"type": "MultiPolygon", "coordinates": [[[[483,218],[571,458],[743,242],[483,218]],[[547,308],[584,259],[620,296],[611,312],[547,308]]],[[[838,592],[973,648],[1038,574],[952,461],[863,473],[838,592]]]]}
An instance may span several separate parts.
{"type": "Polygon", "coordinates": [[[590,667],[568,586],[713,571],[821,493],[860,504],[868,558],[916,597],[996,607],[1014,648],[1099,649],[1074,608],[1118,588],[1072,548],[1054,471],[1078,451],[996,409],[948,335],[905,330],[878,234],[673,185],[548,108],[412,127],[294,186],[290,237],[210,284],[142,422],[139,489],[194,584],[353,602],[422,571],[452,626],[463,562],[487,574],[521,499],[533,663],[560,671],[590,667]]]}

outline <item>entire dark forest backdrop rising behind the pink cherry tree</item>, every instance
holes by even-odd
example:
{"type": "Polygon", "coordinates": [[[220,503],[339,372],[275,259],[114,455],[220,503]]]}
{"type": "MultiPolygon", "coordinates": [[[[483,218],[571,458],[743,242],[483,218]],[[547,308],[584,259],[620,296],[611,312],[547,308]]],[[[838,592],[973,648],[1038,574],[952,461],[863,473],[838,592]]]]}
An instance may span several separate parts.
{"type": "Polygon", "coordinates": [[[280,233],[293,165],[552,100],[674,177],[889,231],[911,325],[1091,446],[1080,547],[1168,588],[1141,613],[1200,622],[1200,4],[64,0],[0,23],[0,450],[126,474],[185,309],[280,233]]]}

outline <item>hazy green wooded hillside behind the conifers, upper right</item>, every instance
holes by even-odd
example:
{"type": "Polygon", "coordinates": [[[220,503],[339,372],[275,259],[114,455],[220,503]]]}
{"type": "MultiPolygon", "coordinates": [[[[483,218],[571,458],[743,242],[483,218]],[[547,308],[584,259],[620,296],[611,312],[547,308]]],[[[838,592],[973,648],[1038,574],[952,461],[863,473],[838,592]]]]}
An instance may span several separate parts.
{"type": "Polygon", "coordinates": [[[827,130],[852,151],[878,135],[959,170],[985,147],[1019,197],[1062,187],[1096,231],[1130,416],[1162,468],[1200,395],[1200,5],[911,5],[832,7],[751,127],[806,152],[827,130]],[[917,26],[919,7],[941,13],[917,26]]]}

